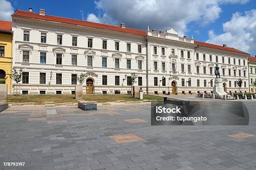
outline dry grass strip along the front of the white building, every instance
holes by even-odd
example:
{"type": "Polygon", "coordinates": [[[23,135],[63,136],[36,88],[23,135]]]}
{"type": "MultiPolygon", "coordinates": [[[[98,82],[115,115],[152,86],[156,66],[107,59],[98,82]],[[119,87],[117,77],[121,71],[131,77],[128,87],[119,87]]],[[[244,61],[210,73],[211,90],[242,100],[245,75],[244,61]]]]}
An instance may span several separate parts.
{"type": "MultiPolygon", "coordinates": [[[[115,102],[117,100],[127,101],[141,101],[138,98],[133,98],[131,95],[83,95],[83,99],[86,101],[96,101],[98,103],[115,102]]],[[[145,100],[157,100],[159,102],[164,101],[164,97],[153,96],[153,95],[143,95],[145,100]]],[[[25,102],[35,102],[36,105],[54,104],[54,103],[67,103],[67,102],[77,102],[74,99],[74,95],[8,95],[8,100],[6,102],[11,103],[25,103],[25,102]],[[45,103],[54,102],[54,103],[45,103]]]]}

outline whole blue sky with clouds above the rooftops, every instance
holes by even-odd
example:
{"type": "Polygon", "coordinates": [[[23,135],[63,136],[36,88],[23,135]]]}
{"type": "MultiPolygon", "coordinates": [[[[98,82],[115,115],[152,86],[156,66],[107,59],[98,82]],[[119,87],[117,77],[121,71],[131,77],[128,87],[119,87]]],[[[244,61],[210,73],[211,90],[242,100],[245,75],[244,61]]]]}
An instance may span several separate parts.
{"type": "Polygon", "coordinates": [[[174,28],[179,36],[226,44],[256,55],[256,0],[0,0],[0,20],[16,10],[87,20],[125,23],[139,30],[174,28]]]}

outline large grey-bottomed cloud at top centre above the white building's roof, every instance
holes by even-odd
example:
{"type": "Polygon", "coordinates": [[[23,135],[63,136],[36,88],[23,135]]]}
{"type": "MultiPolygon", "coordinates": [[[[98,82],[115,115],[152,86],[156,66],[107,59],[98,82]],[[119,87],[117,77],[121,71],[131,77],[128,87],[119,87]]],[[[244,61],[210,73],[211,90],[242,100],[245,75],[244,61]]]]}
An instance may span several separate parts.
{"type": "Polygon", "coordinates": [[[223,3],[246,3],[248,0],[98,0],[98,13],[87,15],[88,21],[146,30],[176,29],[180,35],[195,22],[205,26],[220,17],[223,3]]]}

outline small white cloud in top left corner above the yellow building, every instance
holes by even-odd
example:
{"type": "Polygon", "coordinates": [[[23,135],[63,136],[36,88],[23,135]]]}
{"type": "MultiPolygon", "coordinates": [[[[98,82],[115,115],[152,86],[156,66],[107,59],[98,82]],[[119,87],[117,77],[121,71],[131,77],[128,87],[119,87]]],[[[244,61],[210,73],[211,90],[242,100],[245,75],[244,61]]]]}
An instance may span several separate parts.
{"type": "Polygon", "coordinates": [[[0,20],[11,21],[13,12],[13,6],[9,1],[0,0],[0,20]]]}

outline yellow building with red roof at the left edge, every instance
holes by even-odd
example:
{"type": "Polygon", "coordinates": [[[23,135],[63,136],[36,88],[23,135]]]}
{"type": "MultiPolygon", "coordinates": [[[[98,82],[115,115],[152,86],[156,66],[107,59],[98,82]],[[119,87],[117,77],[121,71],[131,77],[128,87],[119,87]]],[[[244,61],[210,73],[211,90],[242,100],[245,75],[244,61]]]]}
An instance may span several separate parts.
{"type": "Polygon", "coordinates": [[[8,94],[12,93],[12,22],[0,21],[0,84],[8,85],[8,94]]]}

